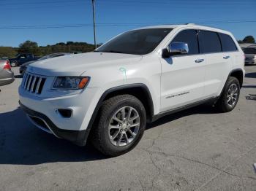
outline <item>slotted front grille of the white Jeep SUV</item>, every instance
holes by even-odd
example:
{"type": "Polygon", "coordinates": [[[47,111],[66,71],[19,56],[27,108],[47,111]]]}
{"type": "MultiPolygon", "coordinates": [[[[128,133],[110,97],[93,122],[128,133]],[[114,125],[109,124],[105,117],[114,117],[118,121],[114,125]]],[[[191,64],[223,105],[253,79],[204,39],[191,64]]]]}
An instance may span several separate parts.
{"type": "Polygon", "coordinates": [[[26,73],[23,76],[23,81],[21,83],[24,90],[30,93],[40,94],[42,92],[42,87],[45,85],[45,77],[38,76],[36,74],[26,73]]]}

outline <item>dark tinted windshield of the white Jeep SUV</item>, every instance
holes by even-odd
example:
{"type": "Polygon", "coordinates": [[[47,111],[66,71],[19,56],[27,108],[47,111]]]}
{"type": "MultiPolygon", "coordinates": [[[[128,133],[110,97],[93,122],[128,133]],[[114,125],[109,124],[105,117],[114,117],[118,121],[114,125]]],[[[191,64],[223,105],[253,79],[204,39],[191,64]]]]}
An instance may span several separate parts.
{"type": "Polygon", "coordinates": [[[103,44],[95,52],[146,55],[152,52],[173,28],[148,28],[128,31],[103,44]]]}

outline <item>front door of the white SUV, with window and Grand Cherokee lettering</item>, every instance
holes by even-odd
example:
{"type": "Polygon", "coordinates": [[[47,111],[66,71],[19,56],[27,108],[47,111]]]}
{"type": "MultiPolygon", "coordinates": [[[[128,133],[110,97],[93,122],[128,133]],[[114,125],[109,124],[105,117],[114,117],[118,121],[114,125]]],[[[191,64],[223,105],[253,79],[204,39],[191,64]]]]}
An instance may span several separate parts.
{"type": "Polygon", "coordinates": [[[161,112],[200,101],[204,95],[206,61],[199,53],[197,31],[180,31],[171,42],[187,43],[189,52],[187,55],[160,58],[161,112]]]}

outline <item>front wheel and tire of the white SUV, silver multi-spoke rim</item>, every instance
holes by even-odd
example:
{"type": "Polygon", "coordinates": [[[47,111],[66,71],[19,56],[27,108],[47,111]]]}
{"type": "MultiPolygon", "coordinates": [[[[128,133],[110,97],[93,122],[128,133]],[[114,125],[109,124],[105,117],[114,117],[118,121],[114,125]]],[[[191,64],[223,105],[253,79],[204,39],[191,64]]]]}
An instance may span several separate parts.
{"type": "Polygon", "coordinates": [[[146,110],[138,98],[132,95],[117,95],[104,101],[97,118],[92,128],[92,144],[104,155],[111,157],[133,149],[146,127],[146,110]],[[127,118],[122,117],[123,113],[127,118]]]}

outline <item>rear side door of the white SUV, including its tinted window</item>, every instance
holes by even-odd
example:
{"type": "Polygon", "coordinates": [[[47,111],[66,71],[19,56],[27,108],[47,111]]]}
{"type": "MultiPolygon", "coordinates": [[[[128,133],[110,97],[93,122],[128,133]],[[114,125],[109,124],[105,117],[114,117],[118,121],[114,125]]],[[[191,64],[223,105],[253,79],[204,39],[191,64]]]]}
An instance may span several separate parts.
{"type": "Polygon", "coordinates": [[[205,97],[215,97],[222,90],[223,82],[232,67],[231,56],[222,52],[219,34],[214,31],[199,31],[200,53],[206,58],[205,97]]]}

